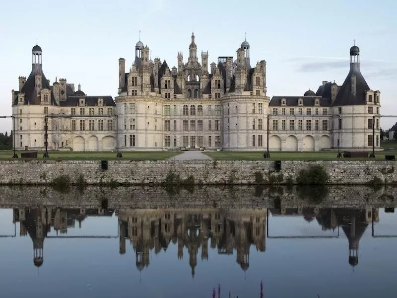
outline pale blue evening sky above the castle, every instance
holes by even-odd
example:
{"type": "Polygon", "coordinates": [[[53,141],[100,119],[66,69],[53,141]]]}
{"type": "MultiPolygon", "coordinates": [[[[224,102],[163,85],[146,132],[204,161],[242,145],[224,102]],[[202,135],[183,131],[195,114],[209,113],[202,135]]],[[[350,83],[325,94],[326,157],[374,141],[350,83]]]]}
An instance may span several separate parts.
{"type": "MultiPolygon", "coordinates": [[[[266,60],[267,95],[303,95],[323,80],[341,85],[349,49],[360,47],[361,73],[381,91],[381,114],[397,115],[397,1],[393,0],[18,0],[0,10],[0,114],[11,115],[11,90],[31,71],[31,49],[43,49],[51,83],[66,78],[87,95],[117,96],[118,60],[132,65],[139,40],[151,58],[177,66],[189,56],[192,32],[198,54],[236,57],[246,36],[251,65],[266,60]],[[245,34],[246,33],[246,34],[245,34]]],[[[383,118],[389,129],[397,118],[383,118]]],[[[0,132],[10,119],[0,119],[0,132]]]]}

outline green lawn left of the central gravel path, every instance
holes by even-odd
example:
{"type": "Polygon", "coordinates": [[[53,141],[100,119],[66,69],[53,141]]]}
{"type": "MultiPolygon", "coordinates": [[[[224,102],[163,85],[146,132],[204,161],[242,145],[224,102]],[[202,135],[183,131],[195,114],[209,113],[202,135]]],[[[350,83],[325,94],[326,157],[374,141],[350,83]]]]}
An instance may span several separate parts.
{"type": "MultiPolygon", "coordinates": [[[[21,159],[21,152],[16,151],[18,154],[18,159],[21,159]]],[[[121,152],[123,154],[122,158],[116,156],[117,152],[60,152],[60,151],[48,151],[49,158],[43,158],[44,151],[39,151],[37,153],[37,159],[50,159],[50,160],[163,160],[170,158],[174,155],[178,155],[181,152],[168,152],[168,151],[145,151],[145,152],[136,152],[136,151],[127,151],[121,152]]],[[[8,160],[12,158],[12,151],[0,151],[0,160],[8,160]]],[[[31,159],[31,158],[28,158],[31,159]]]]}

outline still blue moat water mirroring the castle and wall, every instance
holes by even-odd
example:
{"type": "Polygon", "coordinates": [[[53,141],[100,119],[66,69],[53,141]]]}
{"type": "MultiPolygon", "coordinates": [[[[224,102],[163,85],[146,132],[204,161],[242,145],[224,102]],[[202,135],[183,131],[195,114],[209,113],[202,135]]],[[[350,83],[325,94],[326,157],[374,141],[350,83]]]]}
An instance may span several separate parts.
{"type": "Polygon", "coordinates": [[[206,188],[230,197],[211,204],[145,190],[162,202],[150,208],[134,190],[36,191],[0,198],[0,297],[396,297],[390,190],[371,201],[339,188],[342,202],[206,188]]]}

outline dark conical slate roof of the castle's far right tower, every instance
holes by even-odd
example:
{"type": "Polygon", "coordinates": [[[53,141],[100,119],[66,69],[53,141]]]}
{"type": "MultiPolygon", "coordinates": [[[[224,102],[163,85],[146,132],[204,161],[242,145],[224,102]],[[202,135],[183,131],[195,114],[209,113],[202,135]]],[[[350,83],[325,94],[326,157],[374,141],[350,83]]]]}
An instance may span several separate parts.
{"type": "Polygon", "coordinates": [[[334,106],[343,105],[361,105],[366,104],[365,91],[370,90],[367,82],[360,72],[360,65],[358,63],[350,64],[350,72],[347,74],[338,94],[336,95],[334,106]],[[356,95],[351,92],[351,78],[356,77],[356,95]]]}

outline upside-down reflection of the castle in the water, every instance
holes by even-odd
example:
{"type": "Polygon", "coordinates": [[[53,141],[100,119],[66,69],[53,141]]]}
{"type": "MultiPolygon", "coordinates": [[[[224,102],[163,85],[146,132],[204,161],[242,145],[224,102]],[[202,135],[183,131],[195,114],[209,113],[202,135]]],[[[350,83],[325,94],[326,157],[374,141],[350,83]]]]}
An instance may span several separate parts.
{"type": "MultiPolygon", "coordinates": [[[[42,266],[44,240],[51,230],[66,234],[87,217],[119,220],[120,254],[126,253],[129,240],[135,253],[136,268],[150,264],[150,251],[165,252],[170,243],[177,245],[177,258],[187,251],[192,277],[198,258],[208,260],[208,246],[218,254],[236,254],[242,270],[250,266],[250,249],[265,252],[266,223],[269,217],[302,217],[317,222],[322,231],[341,227],[348,239],[348,262],[358,264],[359,241],[369,223],[379,222],[379,209],[352,208],[273,208],[273,209],[111,209],[111,208],[14,208],[13,222],[20,223],[20,236],[33,241],[33,262],[42,266]],[[209,243],[208,243],[209,242],[209,243]]],[[[310,237],[310,235],[308,236],[310,237]]],[[[274,238],[269,236],[269,239],[274,238]]],[[[304,238],[304,236],[302,237],[304,238]]],[[[269,240],[269,241],[270,241],[269,240]]]]}

